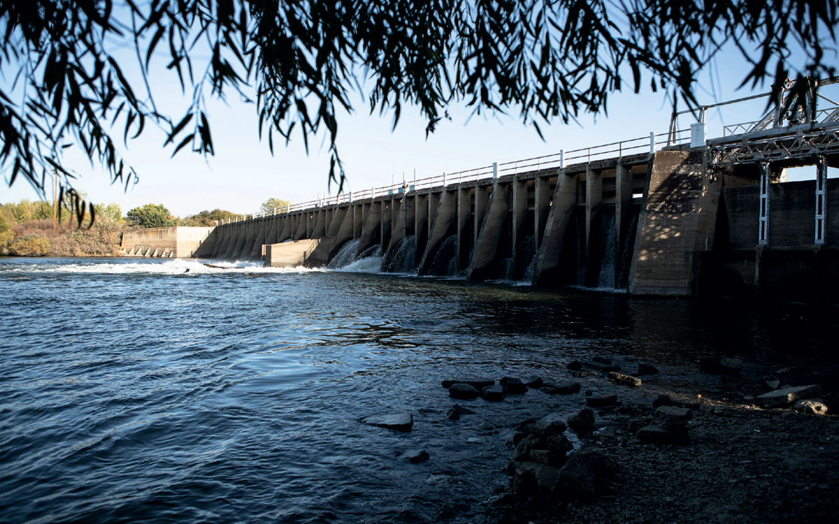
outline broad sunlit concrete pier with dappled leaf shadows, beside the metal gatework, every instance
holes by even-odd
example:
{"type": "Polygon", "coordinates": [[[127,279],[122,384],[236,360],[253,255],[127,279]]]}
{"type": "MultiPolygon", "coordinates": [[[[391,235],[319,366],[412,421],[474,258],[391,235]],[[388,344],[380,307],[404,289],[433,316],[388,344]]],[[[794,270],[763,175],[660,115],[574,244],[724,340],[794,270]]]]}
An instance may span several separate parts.
{"type": "MultiPolygon", "coordinates": [[[[639,216],[629,293],[696,293],[700,253],[714,247],[722,176],[702,151],[659,151],[639,216]]],[[[757,217],[755,217],[757,220],[757,217]]]]}

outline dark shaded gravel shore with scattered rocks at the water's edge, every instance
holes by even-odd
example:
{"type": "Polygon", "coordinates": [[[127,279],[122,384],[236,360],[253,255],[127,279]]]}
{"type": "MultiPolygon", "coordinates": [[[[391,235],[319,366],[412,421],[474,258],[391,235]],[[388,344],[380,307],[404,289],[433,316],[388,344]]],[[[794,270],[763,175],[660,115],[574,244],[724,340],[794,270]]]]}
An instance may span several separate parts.
{"type": "MultiPolygon", "coordinates": [[[[451,401],[440,397],[434,412],[452,430],[503,440],[508,480],[487,485],[482,502],[453,501],[439,521],[839,520],[839,366],[727,356],[688,371],[631,357],[566,364],[551,380],[442,381],[451,401]],[[503,402],[532,416],[499,420],[492,406],[503,402]]],[[[392,419],[402,432],[417,422],[392,419]]],[[[435,456],[414,443],[399,459],[435,456]]]]}

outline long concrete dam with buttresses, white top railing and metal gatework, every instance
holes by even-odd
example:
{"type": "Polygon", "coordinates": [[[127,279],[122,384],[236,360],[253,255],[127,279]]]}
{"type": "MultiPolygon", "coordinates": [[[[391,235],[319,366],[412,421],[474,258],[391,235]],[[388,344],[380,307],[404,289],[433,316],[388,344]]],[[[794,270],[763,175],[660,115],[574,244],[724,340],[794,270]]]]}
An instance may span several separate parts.
{"type": "Polygon", "coordinates": [[[839,107],[816,114],[769,112],[712,140],[704,122],[674,123],[666,141],[338,195],[220,224],[193,256],[320,267],[374,255],[383,272],[420,276],[836,304],[839,107]],[[814,179],[785,181],[804,165],[814,179]]]}

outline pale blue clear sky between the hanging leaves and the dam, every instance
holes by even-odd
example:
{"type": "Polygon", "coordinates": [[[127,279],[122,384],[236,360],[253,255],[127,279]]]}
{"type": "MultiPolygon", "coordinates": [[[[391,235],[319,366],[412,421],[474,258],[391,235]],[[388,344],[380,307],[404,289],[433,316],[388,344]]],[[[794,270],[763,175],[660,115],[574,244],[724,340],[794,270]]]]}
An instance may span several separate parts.
{"type": "MultiPolygon", "coordinates": [[[[703,76],[697,89],[699,100],[710,104],[769,91],[769,86],[758,91],[737,91],[744,71],[745,65],[737,54],[723,54],[716,67],[703,76]]],[[[646,79],[644,83],[649,86],[649,77],[646,79]]],[[[156,75],[152,81],[160,106],[180,110],[185,107],[180,87],[170,75],[168,78],[156,75]]],[[[481,115],[470,119],[469,108],[451,106],[451,122],[441,122],[438,130],[426,139],[425,121],[414,108],[404,108],[399,126],[392,132],[391,114],[370,116],[368,105],[360,96],[352,103],[357,111],[338,120],[338,143],[347,173],[347,188],[355,191],[388,185],[392,179],[401,181],[403,174],[412,179],[414,169],[417,179],[422,179],[492,162],[549,155],[560,149],[568,151],[645,137],[651,131],[664,133],[672,111],[663,92],[653,93],[647,87],[635,95],[629,87],[628,91],[612,96],[607,115],[581,115],[579,124],[556,121],[550,126],[543,125],[543,142],[532,127],[519,120],[515,109],[508,117],[481,115]]],[[[706,117],[707,136],[720,136],[723,124],[758,120],[764,104],[765,101],[754,101],[710,112],[706,117]]],[[[138,205],[154,203],[165,205],[179,216],[215,208],[253,213],[270,197],[297,203],[315,200],[318,195],[336,194],[334,184],[331,192],[327,186],[329,151],[323,136],[310,138],[308,155],[299,133],[288,148],[275,142],[272,157],[267,141],[259,141],[253,105],[231,95],[228,104],[211,101],[209,110],[216,148],[214,157],[182,151],[170,158],[172,149],[162,148],[164,132],[147,126],[140,139],[129,141],[128,148],[122,148],[125,158],[138,172],[138,184],[125,191],[122,185],[111,184],[98,166],[91,166],[86,158],[70,152],[65,157],[66,165],[82,175],[74,183],[76,189],[86,191],[97,203],[117,202],[123,214],[138,205]]],[[[691,122],[690,117],[684,117],[679,127],[687,128],[691,122]]],[[[117,132],[117,136],[121,135],[117,132]]],[[[119,143],[122,145],[122,141],[119,143]]],[[[8,179],[8,173],[3,174],[3,179],[8,179]]],[[[8,183],[0,187],[2,202],[24,198],[39,197],[23,179],[18,179],[12,188],[8,183]]]]}

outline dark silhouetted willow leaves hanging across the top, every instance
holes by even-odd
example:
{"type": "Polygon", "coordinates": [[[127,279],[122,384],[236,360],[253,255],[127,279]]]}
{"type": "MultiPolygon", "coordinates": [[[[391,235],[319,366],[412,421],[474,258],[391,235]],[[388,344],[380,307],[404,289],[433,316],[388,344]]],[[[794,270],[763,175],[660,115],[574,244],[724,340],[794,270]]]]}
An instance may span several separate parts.
{"type": "Polygon", "coordinates": [[[296,128],[307,141],[326,129],[330,179],[340,184],[336,108],[352,109],[350,91],[362,83],[372,112],[393,112],[395,126],[404,104],[417,106],[427,132],[458,102],[513,109],[539,130],[604,111],[627,84],[692,101],[698,72],[728,44],[751,65],[744,85],[774,80],[779,89],[788,75],[834,74],[826,53],[836,44],[837,1],[3,2],[0,70],[13,85],[0,89],[0,163],[12,181],[22,175],[43,190],[54,169],[65,183],[74,177],[61,153],[77,147],[129,184],[136,173],[115,140],[153,122],[173,154],[212,154],[206,96],[233,91],[256,103],[272,152],[275,135],[287,141],[296,128]],[[126,45],[142,82],[129,81],[117,60],[126,45]],[[798,47],[805,60],[791,62],[798,47]],[[209,60],[197,60],[205,53],[209,60]],[[191,93],[180,114],[155,104],[149,76],[158,54],[191,93]]]}

